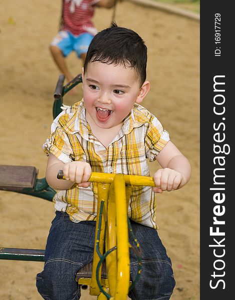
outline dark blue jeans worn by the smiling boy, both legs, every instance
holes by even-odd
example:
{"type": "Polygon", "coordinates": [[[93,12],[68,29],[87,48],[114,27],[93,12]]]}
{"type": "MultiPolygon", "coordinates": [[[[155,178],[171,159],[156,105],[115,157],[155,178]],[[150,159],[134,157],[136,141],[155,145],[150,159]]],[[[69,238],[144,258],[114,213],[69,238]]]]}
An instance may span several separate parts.
{"type": "MultiPolygon", "coordinates": [[[[45,300],[78,300],[77,271],[93,259],[95,221],[74,223],[65,212],[56,212],[49,232],[44,270],[37,274],[37,288],[45,300]]],[[[142,249],[142,272],[129,297],[134,300],[169,300],[175,286],[170,258],[157,230],[132,221],[142,249]]],[[[134,244],[130,240],[131,244],[134,244]]],[[[131,279],[138,261],[130,251],[131,279]]]]}

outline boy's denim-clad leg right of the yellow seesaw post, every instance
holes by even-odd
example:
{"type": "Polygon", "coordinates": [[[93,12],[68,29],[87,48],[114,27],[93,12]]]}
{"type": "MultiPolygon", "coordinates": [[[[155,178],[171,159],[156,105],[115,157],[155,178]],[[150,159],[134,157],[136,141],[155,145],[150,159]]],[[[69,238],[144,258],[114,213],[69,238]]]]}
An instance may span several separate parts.
{"type": "MultiPolygon", "coordinates": [[[[175,286],[170,258],[166,254],[157,230],[132,222],[133,233],[142,249],[142,271],[136,286],[130,292],[133,300],[169,300],[175,286]]],[[[131,244],[133,240],[130,239],[131,244]]],[[[134,280],[138,261],[130,250],[131,278],[134,280]]]]}

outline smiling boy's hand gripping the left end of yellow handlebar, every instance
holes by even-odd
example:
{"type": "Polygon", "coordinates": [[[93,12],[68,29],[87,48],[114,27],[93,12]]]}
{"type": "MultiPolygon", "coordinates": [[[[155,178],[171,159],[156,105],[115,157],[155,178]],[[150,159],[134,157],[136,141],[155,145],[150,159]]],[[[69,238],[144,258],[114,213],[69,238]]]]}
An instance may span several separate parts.
{"type": "Polygon", "coordinates": [[[85,161],[71,161],[63,166],[64,176],[67,180],[78,183],[78,186],[88,187],[87,182],[91,176],[91,166],[85,161]]]}

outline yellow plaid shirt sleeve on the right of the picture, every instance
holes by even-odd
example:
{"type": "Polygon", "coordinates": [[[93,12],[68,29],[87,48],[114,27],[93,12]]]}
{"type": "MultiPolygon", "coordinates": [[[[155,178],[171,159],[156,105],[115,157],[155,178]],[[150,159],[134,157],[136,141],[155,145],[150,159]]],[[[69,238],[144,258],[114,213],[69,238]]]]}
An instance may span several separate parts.
{"type": "Polygon", "coordinates": [[[169,140],[169,133],[163,129],[162,124],[154,116],[145,135],[145,153],[149,161],[156,159],[156,155],[169,140]]]}

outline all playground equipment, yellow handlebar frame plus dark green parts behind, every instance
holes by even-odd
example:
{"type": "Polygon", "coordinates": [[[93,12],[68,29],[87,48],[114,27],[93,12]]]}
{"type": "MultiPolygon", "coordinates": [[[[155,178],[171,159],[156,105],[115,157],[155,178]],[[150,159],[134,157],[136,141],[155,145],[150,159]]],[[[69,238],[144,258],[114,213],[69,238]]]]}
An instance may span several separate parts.
{"type": "MultiPolygon", "coordinates": [[[[64,109],[63,96],[79,82],[79,74],[67,85],[64,75],[60,75],[53,105],[54,118],[64,109]]],[[[63,179],[63,172],[58,173],[63,179]]],[[[126,299],[129,290],[137,282],[141,273],[141,251],[133,236],[127,216],[132,185],[155,186],[152,177],[110,173],[92,173],[89,181],[98,184],[98,211],[93,262],[85,265],[76,275],[79,284],[90,285],[90,294],[97,299],[126,299]],[[128,241],[128,229],[135,241],[128,241]],[[105,245],[105,253],[104,253],[105,245]],[[129,248],[139,262],[138,273],[130,282],[129,248]]],[[[0,165],[0,189],[15,191],[52,200],[55,190],[46,178],[37,178],[34,166],[0,165]]],[[[44,261],[45,250],[0,247],[0,259],[44,261]]]]}

